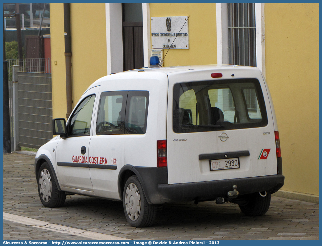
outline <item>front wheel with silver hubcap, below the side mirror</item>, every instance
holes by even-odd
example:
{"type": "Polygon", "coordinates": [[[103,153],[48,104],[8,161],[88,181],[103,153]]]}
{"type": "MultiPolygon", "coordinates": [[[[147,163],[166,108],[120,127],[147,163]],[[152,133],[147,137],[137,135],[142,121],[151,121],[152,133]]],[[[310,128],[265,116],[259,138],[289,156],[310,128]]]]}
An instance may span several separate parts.
{"type": "Polygon", "coordinates": [[[38,194],[45,207],[61,207],[66,200],[64,191],[59,191],[50,166],[44,162],[38,172],[38,194]]]}

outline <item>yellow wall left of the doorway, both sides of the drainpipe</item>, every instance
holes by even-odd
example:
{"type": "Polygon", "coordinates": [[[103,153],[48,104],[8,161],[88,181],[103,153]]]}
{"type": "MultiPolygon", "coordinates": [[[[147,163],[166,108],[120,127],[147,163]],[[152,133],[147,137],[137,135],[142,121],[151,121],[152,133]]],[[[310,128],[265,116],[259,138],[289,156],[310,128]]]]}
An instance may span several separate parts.
{"type": "MultiPolygon", "coordinates": [[[[51,4],[53,118],[66,116],[63,4],[51,4]],[[57,65],[54,64],[57,61],[57,65]]],[[[73,107],[85,90],[107,75],[105,4],[71,4],[73,107]]]]}

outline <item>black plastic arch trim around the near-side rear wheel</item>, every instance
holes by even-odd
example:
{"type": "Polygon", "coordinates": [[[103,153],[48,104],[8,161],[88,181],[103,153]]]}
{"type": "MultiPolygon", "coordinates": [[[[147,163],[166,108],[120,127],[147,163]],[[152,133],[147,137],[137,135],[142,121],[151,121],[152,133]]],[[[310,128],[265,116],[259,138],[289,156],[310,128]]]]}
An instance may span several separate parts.
{"type": "Polygon", "coordinates": [[[146,187],[145,187],[145,184],[144,184],[144,181],[141,177],[141,175],[139,174],[139,172],[137,171],[137,169],[134,167],[134,166],[131,166],[131,165],[125,165],[121,168],[120,172],[118,173],[118,194],[120,196],[120,199],[121,201],[123,201],[123,191],[124,191],[124,185],[126,183],[126,181],[128,180],[128,178],[132,175],[137,175],[141,185],[142,185],[142,188],[143,188],[143,191],[144,191],[144,194],[147,198],[147,202],[149,204],[152,204],[151,201],[150,201],[150,198],[149,198],[149,195],[147,194],[146,192],[146,187]]]}

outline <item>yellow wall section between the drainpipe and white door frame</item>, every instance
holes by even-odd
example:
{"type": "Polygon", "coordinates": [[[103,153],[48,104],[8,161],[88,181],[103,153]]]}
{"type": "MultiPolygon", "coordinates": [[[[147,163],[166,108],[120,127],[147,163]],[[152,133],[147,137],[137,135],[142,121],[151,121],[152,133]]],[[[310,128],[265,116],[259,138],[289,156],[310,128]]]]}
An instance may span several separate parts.
{"type": "Polygon", "coordinates": [[[105,3],[71,4],[73,107],[85,90],[107,75],[105,3]]]}

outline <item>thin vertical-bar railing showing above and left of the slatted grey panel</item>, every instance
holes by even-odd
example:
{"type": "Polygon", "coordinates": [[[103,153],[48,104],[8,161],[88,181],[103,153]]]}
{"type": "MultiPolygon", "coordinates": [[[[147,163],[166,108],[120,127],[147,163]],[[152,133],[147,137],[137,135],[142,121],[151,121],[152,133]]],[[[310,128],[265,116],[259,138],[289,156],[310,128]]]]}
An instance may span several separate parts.
{"type": "MultiPolygon", "coordinates": [[[[51,77],[51,59],[8,59],[8,81],[9,81],[9,108],[10,108],[10,130],[11,130],[11,149],[14,149],[14,108],[13,108],[13,65],[20,66],[20,71],[46,73],[45,77],[51,77]]],[[[42,76],[40,76],[42,77],[42,76]]],[[[51,83],[50,83],[51,85],[51,83]]],[[[51,90],[50,90],[51,92],[51,90]]],[[[51,136],[52,137],[52,136],[51,136]]]]}

